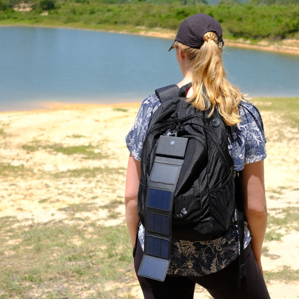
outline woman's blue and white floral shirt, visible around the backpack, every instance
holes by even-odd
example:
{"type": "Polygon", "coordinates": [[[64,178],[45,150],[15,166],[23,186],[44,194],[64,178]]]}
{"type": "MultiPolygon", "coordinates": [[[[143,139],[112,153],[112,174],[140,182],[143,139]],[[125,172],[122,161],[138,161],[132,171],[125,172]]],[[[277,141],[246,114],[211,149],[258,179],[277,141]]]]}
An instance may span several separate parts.
{"type": "MultiPolygon", "coordinates": [[[[126,136],[126,144],[133,157],[140,161],[143,142],[149,123],[161,104],[155,94],[149,95],[141,104],[132,129],[126,136]]],[[[233,158],[234,170],[240,171],[245,164],[266,158],[263,121],[260,112],[249,101],[239,104],[241,122],[227,126],[228,150],[233,158]]],[[[244,248],[251,240],[245,222],[244,248]]],[[[140,224],[138,239],[144,250],[144,227],[140,224]]],[[[239,255],[239,237],[236,212],[228,233],[211,241],[172,240],[168,274],[202,276],[223,269],[239,255]]]]}

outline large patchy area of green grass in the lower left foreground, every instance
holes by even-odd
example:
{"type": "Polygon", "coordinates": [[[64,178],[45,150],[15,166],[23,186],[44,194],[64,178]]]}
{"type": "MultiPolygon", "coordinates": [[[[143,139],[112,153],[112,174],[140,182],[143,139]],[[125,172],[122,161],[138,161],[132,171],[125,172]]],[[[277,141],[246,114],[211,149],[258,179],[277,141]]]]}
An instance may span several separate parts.
{"type": "Polygon", "coordinates": [[[45,292],[42,298],[62,298],[55,297],[62,294],[80,298],[88,292],[95,292],[89,298],[104,298],[103,294],[107,299],[122,298],[114,297],[123,291],[120,286],[113,292],[104,291],[105,283],[133,280],[132,250],[125,225],[104,227],[81,221],[69,225],[60,221],[17,226],[11,235],[7,220],[10,225],[19,223],[13,218],[0,218],[0,235],[21,238],[21,242],[1,240],[1,299],[36,298],[28,295],[32,289],[34,293],[45,292]]]}

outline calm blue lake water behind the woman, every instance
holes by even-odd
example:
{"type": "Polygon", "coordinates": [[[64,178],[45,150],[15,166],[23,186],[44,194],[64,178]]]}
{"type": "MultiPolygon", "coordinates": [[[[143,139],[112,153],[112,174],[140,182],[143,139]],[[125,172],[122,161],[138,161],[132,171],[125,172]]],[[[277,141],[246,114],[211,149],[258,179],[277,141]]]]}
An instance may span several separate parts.
{"type": "MultiPolygon", "coordinates": [[[[0,27],[0,110],[45,101],[141,101],[182,79],[169,39],[62,28],[0,27]]],[[[249,96],[299,96],[299,57],[226,47],[230,81],[249,96]]]]}

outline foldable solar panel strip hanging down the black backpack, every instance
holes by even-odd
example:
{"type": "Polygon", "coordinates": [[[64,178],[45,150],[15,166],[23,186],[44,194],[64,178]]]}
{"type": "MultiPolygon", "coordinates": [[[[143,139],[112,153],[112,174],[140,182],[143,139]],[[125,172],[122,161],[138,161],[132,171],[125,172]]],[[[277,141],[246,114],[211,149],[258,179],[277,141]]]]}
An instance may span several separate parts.
{"type": "Polygon", "coordinates": [[[160,136],[145,205],[144,256],[138,275],[164,281],[171,250],[173,197],[184,163],[187,138],[160,136]]]}

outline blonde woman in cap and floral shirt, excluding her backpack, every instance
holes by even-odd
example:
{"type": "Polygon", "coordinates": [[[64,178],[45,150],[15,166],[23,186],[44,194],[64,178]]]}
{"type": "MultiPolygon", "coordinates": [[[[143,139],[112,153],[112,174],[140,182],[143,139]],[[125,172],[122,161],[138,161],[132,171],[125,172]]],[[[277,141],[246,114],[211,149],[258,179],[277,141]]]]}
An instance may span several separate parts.
{"type": "MultiPolygon", "coordinates": [[[[138,276],[145,299],[193,298],[196,283],[205,287],[213,298],[270,298],[260,260],[267,223],[263,122],[259,111],[226,80],[222,65],[223,44],[220,24],[199,13],[181,23],[170,50],[176,49],[176,59],[184,76],[177,85],[181,88],[192,83],[189,88],[187,85],[186,101],[200,110],[217,107],[226,124],[228,149],[234,170],[239,171],[247,219],[244,229],[246,286],[238,275],[239,239],[234,215],[228,233],[219,239],[172,240],[165,280],[161,282],[138,276]]],[[[139,225],[137,215],[141,152],[149,122],[160,104],[155,94],[149,95],[141,104],[135,123],[126,136],[130,151],[125,193],[126,221],[132,248],[136,242],[135,273],[144,250],[144,227],[139,225]]]]}

